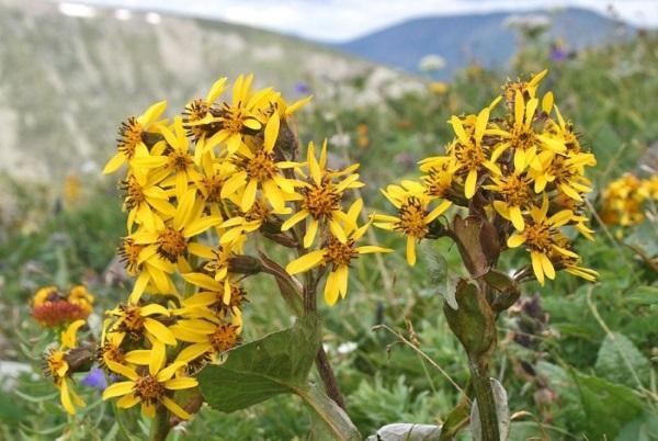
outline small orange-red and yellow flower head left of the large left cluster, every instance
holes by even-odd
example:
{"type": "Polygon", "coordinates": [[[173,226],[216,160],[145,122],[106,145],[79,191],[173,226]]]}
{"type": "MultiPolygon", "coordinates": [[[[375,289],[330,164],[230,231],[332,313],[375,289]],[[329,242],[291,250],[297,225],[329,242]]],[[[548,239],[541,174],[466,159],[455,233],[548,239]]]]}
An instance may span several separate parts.
{"type": "Polygon", "coordinates": [[[68,293],[57,286],[41,287],[32,301],[32,317],[46,328],[55,328],[91,314],[93,295],[83,285],[73,286],[68,293]]]}

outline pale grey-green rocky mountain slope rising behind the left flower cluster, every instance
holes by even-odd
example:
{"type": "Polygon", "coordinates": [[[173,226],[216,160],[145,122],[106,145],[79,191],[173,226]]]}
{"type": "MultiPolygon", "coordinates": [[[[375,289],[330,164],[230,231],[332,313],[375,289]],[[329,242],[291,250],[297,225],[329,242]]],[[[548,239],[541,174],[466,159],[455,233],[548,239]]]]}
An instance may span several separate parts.
{"type": "Polygon", "coordinates": [[[173,16],[154,25],[139,13],[116,20],[112,10],[73,18],[57,8],[0,0],[0,172],[47,181],[84,162],[99,170],[127,115],[161,99],[175,112],[220,76],[256,72],[257,86],[295,99],[298,81],[377,70],[336,49],[246,26],[173,16]]]}

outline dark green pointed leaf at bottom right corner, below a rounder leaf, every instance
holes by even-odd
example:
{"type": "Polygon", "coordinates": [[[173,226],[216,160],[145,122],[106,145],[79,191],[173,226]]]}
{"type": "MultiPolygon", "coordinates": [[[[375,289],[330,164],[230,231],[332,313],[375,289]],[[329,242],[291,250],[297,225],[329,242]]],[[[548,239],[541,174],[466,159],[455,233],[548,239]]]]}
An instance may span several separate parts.
{"type": "Polygon", "coordinates": [[[580,392],[589,439],[614,439],[643,412],[642,400],[628,387],[575,371],[571,375],[580,392]]]}

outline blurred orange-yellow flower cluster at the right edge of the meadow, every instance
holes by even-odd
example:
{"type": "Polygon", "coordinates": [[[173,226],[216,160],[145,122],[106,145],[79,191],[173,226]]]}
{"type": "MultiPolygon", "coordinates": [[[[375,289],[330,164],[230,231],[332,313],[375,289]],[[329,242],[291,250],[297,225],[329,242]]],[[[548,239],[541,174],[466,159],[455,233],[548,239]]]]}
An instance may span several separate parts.
{"type": "Polygon", "coordinates": [[[645,219],[649,201],[658,201],[658,176],[639,179],[626,173],[603,190],[601,218],[605,224],[623,227],[637,225],[645,219]]]}

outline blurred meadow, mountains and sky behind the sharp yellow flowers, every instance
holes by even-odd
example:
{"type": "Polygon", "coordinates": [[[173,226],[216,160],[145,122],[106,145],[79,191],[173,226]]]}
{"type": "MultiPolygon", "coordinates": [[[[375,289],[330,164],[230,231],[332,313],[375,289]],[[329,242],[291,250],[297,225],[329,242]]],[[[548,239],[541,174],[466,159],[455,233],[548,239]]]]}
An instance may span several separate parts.
{"type": "MultiPolygon", "coordinates": [[[[288,101],[313,95],[297,115],[299,136],[329,138],[334,156],[362,163],[370,210],[379,186],[442,151],[451,114],[475,112],[508,79],[547,67],[543,88],[599,159],[598,207],[624,173],[656,174],[657,25],[655,0],[0,0],[0,440],[76,430],[66,439],[114,439],[111,417],[94,414],[104,407],[71,428],[52,384],[33,375],[39,330],[29,314],[42,285],[87,284],[98,314],[125,296],[115,256],[125,214],[101,170],[127,116],[162,99],[173,114],[217,78],[253,72],[257,87],[288,101]]],[[[580,253],[601,273],[594,303],[583,283],[558,279],[541,297],[530,287],[500,325],[499,377],[512,411],[529,412],[514,439],[658,433],[656,223],[592,224],[599,239],[580,253]],[[624,410],[595,405],[611,397],[624,410]]],[[[399,248],[394,237],[381,240],[399,248]]],[[[455,250],[442,252],[457,265],[455,250]]],[[[421,283],[428,267],[398,274],[401,255],[376,269],[360,262],[350,296],[327,317],[326,344],[362,433],[397,420],[440,422],[457,396],[371,325],[407,332],[458,383],[467,378],[436,314],[441,296],[421,283]]],[[[258,282],[250,291],[247,340],[290,324],[282,305],[259,298],[258,282]]],[[[300,415],[290,398],[230,416],[205,409],[175,437],[306,439],[300,415]]]]}

